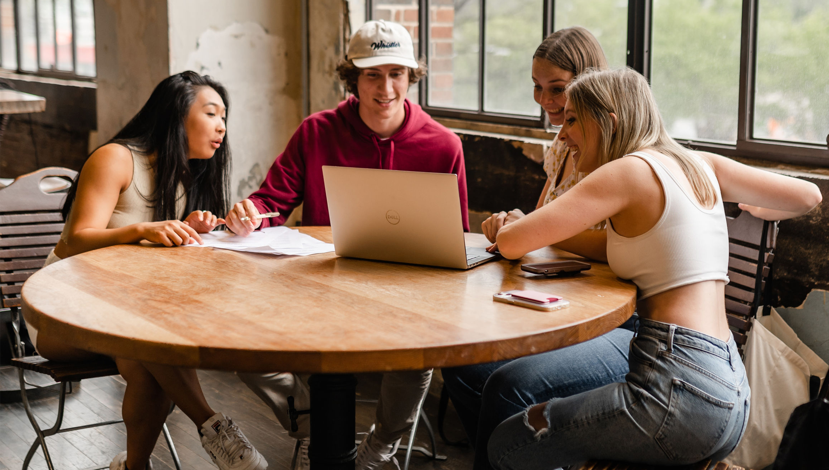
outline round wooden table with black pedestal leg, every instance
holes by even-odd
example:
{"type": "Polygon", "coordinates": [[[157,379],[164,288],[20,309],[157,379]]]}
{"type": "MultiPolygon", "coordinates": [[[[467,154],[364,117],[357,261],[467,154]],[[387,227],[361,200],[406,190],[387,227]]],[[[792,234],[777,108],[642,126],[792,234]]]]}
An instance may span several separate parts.
{"type": "MultiPolygon", "coordinates": [[[[329,227],[299,230],[331,241],[329,227]]],[[[466,236],[467,245],[488,245],[483,235],[466,236]]],[[[521,271],[523,263],[552,259],[579,257],[545,248],[456,270],[333,253],[118,245],[41,269],[23,286],[22,309],[41,336],[109,356],[316,374],[312,465],[353,468],[351,374],[550,351],[598,337],[633,314],[636,287],[606,264],[563,278],[521,271]],[[570,308],[547,313],[492,301],[493,293],[511,289],[554,293],[570,308]],[[324,428],[340,439],[320,435],[324,428]]]]}

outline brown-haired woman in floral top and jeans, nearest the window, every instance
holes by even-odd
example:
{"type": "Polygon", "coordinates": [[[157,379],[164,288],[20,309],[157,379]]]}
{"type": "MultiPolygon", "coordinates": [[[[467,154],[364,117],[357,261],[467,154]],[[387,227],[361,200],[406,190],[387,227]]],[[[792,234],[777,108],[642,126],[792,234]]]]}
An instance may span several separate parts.
{"type": "MultiPolygon", "coordinates": [[[[583,27],[555,31],[541,42],[532,59],[532,81],[536,102],[545,109],[550,124],[565,124],[565,87],[570,81],[584,70],[607,66],[599,41],[583,27]]],[[[564,142],[556,139],[552,144],[544,162],[548,179],[536,209],[555,201],[588,175],[575,170],[573,155],[564,142]]],[[[522,217],[524,214],[518,209],[493,214],[483,223],[483,232],[495,242],[497,230],[522,217]]],[[[599,224],[595,228],[603,227],[599,224]]],[[[604,230],[589,229],[555,246],[604,260],[606,240],[604,230]]],[[[504,419],[542,401],[624,380],[632,337],[631,321],[601,337],[564,349],[511,361],[444,369],[444,383],[475,447],[475,470],[490,468],[487,442],[504,419]]]]}

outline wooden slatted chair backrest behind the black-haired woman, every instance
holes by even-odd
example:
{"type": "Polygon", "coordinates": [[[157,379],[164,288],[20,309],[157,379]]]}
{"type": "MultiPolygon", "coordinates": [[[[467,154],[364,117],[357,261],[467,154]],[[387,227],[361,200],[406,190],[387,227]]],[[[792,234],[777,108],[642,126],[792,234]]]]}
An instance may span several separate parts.
{"type": "Polygon", "coordinates": [[[75,179],[69,168],[48,167],[31,172],[0,189],[0,289],[2,308],[20,307],[23,281],[41,269],[61,240],[61,207],[65,192],[44,192],[46,177],[75,179]]]}

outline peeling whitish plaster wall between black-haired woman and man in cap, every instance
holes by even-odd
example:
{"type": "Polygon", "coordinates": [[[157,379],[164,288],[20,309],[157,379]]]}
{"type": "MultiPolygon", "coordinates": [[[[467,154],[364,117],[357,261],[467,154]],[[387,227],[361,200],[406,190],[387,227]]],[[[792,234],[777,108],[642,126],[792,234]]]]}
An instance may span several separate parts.
{"type": "Polygon", "coordinates": [[[170,0],[170,68],[211,75],[230,94],[230,198],[259,188],[302,121],[299,2],[170,0]]]}

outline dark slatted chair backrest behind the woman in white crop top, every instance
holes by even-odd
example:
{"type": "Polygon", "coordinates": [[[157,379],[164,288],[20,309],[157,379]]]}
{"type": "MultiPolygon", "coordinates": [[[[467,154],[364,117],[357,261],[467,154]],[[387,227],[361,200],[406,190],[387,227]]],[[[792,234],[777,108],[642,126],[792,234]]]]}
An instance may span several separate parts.
{"type": "Polygon", "coordinates": [[[740,351],[760,305],[768,304],[778,223],[758,219],[743,211],[727,217],[729,237],[725,313],[740,351]]]}

